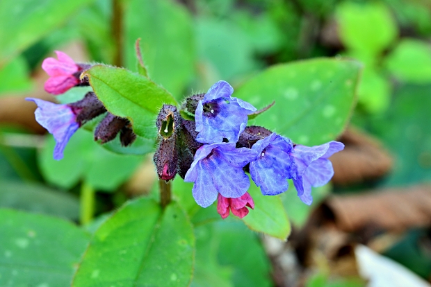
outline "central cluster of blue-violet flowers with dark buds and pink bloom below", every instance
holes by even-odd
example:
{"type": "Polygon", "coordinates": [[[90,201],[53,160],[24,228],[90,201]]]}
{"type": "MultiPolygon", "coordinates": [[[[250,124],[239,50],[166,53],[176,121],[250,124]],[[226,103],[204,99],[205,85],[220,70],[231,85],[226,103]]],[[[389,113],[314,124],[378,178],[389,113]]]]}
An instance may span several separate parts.
{"type": "Polygon", "coordinates": [[[245,171],[263,195],[282,193],[288,189],[287,180],[293,180],[302,202],[311,205],[311,186],[330,181],[334,171],[327,158],[343,150],[343,143],[300,146],[266,128],[247,127],[248,116],[257,109],[232,97],[233,92],[227,82],[219,81],[206,94],[188,98],[183,108],[194,113],[195,121],[182,119],[172,107],[171,112],[159,114],[159,134],[168,134],[161,137],[154,157],[159,177],[170,180],[178,172],[184,181],[194,183],[192,193],[198,205],[209,207],[218,200],[222,218],[229,216],[229,209],[243,218],[249,212],[247,207],[254,208],[245,171]],[[170,122],[174,128],[163,130],[170,122]],[[171,154],[161,161],[168,141],[175,150],[168,148],[171,154]],[[168,158],[176,162],[172,164],[168,158]]]}

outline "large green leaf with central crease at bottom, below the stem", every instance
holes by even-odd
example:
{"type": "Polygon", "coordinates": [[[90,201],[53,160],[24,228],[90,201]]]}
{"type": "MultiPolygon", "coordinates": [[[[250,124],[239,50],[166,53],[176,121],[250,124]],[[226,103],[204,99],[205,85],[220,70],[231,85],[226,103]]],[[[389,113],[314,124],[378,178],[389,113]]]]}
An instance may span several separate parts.
{"type": "Polygon", "coordinates": [[[195,236],[186,213],[140,198],[124,205],[95,232],[72,286],[187,286],[195,236]]]}

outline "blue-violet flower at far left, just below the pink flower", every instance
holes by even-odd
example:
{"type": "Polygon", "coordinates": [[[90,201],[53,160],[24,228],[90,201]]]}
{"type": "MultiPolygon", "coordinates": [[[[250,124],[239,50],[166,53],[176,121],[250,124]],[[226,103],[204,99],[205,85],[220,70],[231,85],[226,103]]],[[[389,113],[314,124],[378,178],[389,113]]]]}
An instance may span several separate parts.
{"type": "Polygon", "coordinates": [[[26,101],[33,101],[38,105],[35,110],[36,121],[54,135],[54,139],[56,139],[54,159],[62,159],[67,141],[79,128],[76,114],[69,105],[58,105],[39,98],[26,98],[26,101]]]}

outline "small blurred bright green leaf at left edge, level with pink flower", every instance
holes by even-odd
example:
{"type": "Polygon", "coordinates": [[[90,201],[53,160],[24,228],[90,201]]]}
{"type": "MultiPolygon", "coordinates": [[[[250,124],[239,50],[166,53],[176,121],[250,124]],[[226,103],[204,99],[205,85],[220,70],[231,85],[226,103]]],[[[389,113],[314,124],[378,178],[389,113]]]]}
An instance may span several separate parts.
{"type": "Polygon", "coordinates": [[[29,67],[21,56],[0,69],[0,79],[0,95],[29,92],[33,87],[29,77],[29,67]]]}

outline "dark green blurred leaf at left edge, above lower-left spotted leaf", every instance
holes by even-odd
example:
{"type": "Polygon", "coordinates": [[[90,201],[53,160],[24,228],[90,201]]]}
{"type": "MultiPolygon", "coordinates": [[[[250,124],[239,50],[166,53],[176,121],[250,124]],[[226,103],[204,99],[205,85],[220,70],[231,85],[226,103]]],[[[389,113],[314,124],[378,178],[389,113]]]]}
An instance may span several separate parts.
{"type": "Polygon", "coordinates": [[[0,207],[79,218],[79,201],[70,193],[40,184],[0,181],[0,207]]]}

